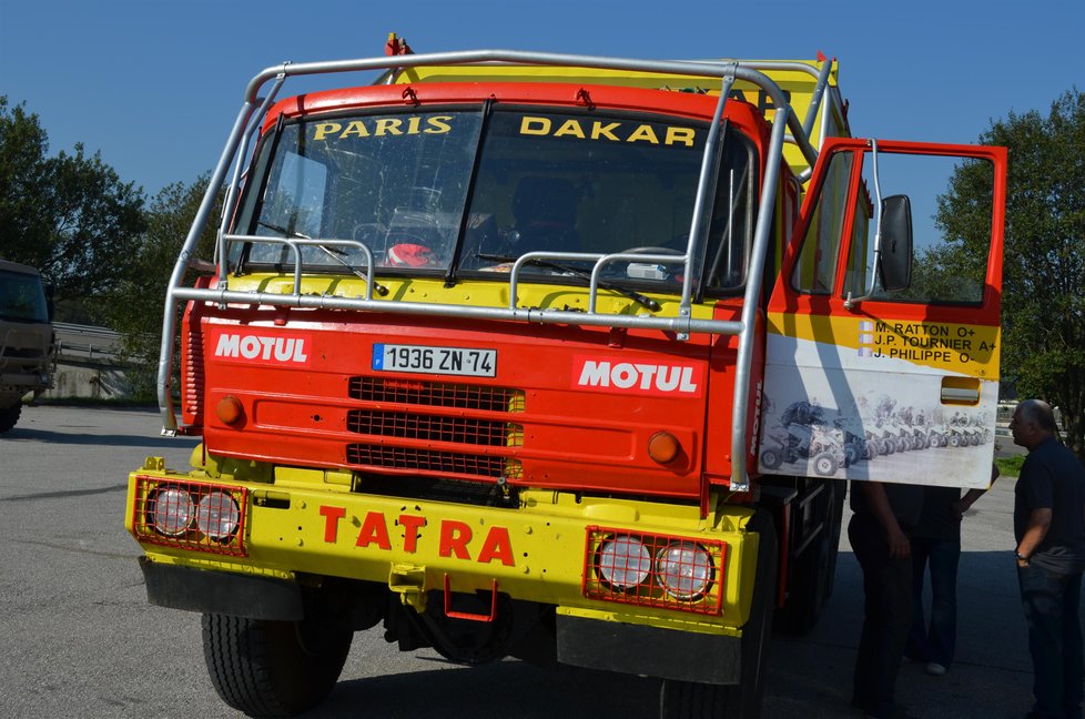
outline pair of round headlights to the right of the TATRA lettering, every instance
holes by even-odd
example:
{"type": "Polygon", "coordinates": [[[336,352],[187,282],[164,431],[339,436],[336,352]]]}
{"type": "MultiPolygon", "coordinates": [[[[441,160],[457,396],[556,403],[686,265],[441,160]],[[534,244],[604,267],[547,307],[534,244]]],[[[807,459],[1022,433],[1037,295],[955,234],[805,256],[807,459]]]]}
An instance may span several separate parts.
{"type": "Polygon", "coordinates": [[[682,601],[697,600],[708,591],[714,567],[708,549],[694,541],[671,541],[655,550],[655,557],[652,550],[637,537],[614,536],[599,546],[599,574],[621,591],[642,585],[652,576],[653,585],[658,583],[668,595],[682,601]]]}

